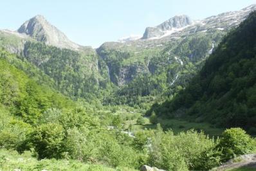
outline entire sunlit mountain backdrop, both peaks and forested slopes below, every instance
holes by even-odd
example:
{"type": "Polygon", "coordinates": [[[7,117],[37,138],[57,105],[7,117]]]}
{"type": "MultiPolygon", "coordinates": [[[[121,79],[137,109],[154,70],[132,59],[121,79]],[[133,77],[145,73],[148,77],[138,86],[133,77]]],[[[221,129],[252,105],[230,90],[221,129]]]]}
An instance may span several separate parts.
{"type": "Polygon", "coordinates": [[[172,17],[154,27],[163,35],[105,42],[96,51],[76,48],[37,15],[18,31],[0,31],[0,46],[41,69],[65,95],[88,98],[96,94],[105,98],[106,104],[134,105],[138,102],[133,98],[165,98],[185,87],[226,32],[254,9],[252,5],[201,21],[192,21],[186,15],[172,17]]]}

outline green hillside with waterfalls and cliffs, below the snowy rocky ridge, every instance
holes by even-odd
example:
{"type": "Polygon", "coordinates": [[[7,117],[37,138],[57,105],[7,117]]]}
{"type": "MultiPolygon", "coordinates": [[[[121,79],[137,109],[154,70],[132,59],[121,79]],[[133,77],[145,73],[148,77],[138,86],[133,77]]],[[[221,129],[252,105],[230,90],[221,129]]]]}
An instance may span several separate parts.
{"type": "Polygon", "coordinates": [[[170,41],[165,48],[151,50],[99,49],[98,54],[110,69],[110,78],[119,78],[122,82],[119,91],[107,97],[105,102],[134,106],[149,103],[152,98],[173,95],[196,75],[205,58],[212,53],[212,42],[217,46],[223,35],[221,31],[194,33],[182,40],[170,41]]]}

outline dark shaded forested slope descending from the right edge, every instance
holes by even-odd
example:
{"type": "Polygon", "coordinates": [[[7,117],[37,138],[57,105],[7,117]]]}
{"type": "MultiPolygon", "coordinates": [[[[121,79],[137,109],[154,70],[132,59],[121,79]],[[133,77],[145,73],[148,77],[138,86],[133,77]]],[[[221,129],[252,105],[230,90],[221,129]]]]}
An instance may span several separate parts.
{"type": "Polygon", "coordinates": [[[256,12],[239,28],[230,31],[206,60],[205,66],[174,100],[153,107],[161,115],[174,117],[185,108],[185,116],[222,127],[250,128],[256,123],[256,12]]]}

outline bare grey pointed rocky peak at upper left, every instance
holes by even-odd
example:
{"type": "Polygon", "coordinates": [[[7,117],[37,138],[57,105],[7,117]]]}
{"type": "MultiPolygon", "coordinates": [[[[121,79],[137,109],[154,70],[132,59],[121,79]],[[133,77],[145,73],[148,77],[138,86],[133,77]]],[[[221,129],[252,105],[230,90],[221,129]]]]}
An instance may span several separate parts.
{"type": "Polygon", "coordinates": [[[51,25],[42,15],[35,15],[32,19],[24,22],[17,31],[51,46],[68,49],[79,48],[77,44],[71,42],[62,31],[51,25]]]}

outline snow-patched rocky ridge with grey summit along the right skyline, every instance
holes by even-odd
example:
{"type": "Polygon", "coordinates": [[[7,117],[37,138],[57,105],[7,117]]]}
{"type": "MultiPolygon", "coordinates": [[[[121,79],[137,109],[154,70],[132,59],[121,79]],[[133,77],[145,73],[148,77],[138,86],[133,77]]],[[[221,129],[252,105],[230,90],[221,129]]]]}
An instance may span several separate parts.
{"type": "MultiPolygon", "coordinates": [[[[158,26],[147,27],[142,37],[136,37],[137,39],[161,39],[163,37],[174,35],[178,32],[181,33],[182,30],[195,30],[196,31],[207,31],[208,28],[217,30],[226,30],[232,28],[239,24],[242,20],[246,18],[248,13],[256,9],[256,5],[252,4],[246,8],[234,12],[225,12],[219,15],[214,15],[207,17],[202,20],[192,20],[187,15],[176,15],[171,17],[169,20],[162,22],[158,26]],[[225,23],[228,22],[228,23],[225,23]]],[[[129,39],[126,37],[126,41],[131,41],[134,39],[129,39]]]]}

